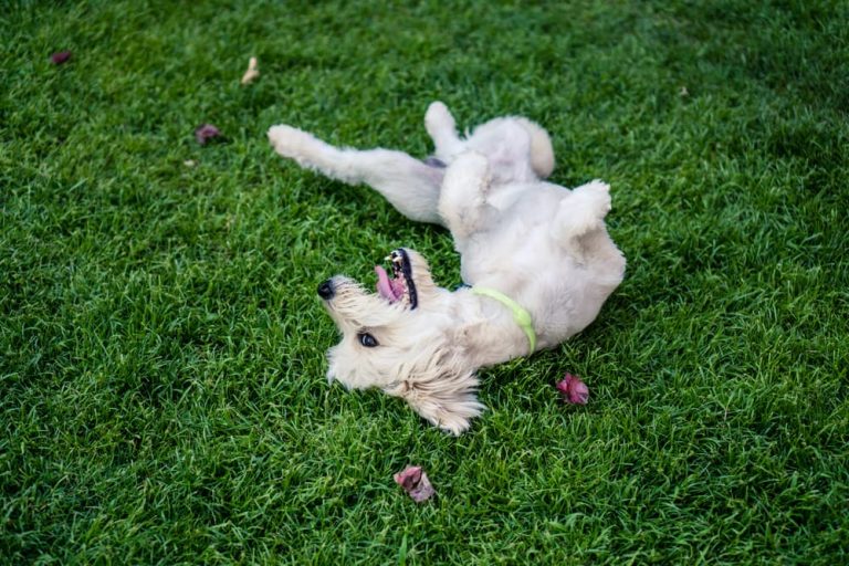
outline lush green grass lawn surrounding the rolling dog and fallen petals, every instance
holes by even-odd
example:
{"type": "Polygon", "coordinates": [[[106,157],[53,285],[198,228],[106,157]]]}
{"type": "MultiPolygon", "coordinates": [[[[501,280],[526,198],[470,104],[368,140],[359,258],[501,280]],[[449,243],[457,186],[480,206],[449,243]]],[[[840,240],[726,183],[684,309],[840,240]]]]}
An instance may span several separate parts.
{"type": "Polygon", "coordinates": [[[849,560],[845,3],[9,6],[1,562],[849,560]],[[482,374],[459,439],[328,387],[314,295],[397,245],[454,285],[450,238],[264,136],[423,156],[437,98],[544,124],[629,260],[589,329],[482,374]]]}

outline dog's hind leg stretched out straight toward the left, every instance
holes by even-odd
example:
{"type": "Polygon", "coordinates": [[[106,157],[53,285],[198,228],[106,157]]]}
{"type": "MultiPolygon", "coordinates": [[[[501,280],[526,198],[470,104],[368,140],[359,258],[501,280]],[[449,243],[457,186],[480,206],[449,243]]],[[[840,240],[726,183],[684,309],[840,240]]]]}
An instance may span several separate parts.
{"type": "Polygon", "coordinates": [[[307,169],[348,184],[366,184],[401,214],[441,224],[439,190],[444,169],[423,164],[403,151],[334,147],[292,126],[272,126],[269,140],[283,157],[307,169]]]}

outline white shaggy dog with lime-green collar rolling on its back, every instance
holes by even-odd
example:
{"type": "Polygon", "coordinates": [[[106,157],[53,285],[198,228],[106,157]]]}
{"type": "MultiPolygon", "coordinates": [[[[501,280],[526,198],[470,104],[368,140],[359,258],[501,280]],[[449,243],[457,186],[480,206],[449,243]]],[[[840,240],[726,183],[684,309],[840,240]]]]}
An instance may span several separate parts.
{"type": "Polygon", "coordinates": [[[580,332],[625,274],[604,218],[609,187],[573,190],[543,179],[554,169],[548,134],[522,117],[495,118],[464,138],[444,104],[424,127],[436,145],[423,161],[402,151],[333,147],[291,126],[273,126],[277,154],[346,184],[366,184],[402,214],[444,226],[469,287],[449,292],[412,250],[391,253],[377,293],[345,276],[318,287],[342,342],[329,349],[328,380],[378,387],[431,423],[459,434],[484,409],[480,367],[551,348],[580,332]]]}

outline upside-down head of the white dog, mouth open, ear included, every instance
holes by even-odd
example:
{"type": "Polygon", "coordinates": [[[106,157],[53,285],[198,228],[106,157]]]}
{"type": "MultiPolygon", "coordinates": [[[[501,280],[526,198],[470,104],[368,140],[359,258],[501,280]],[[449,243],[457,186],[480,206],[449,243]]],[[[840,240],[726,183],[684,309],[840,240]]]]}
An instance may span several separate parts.
{"type": "Polygon", "coordinates": [[[474,368],[465,367],[451,293],[438,287],[428,263],[412,250],[380,266],[377,292],[356,281],[332,277],[318,295],[342,332],[327,353],[327,379],[348,389],[378,387],[406,399],[432,423],[460,433],[481,406],[474,368]]]}

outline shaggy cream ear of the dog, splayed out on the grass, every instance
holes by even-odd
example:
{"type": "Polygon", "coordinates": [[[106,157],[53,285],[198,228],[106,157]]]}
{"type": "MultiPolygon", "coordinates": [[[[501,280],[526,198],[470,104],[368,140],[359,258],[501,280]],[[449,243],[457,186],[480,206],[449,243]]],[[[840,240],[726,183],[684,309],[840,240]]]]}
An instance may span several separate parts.
{"type": "Polygon", "coordinates": [[[474,371],[450,366],[439,367],[429,376],[410,376],[385,391],[401,397],[431,424],[455,436],[468,430],[471,419],[486,409],[478,401],[474,371]]]}

